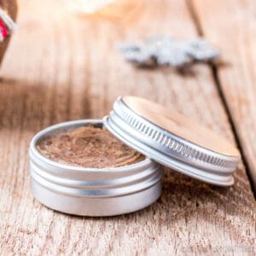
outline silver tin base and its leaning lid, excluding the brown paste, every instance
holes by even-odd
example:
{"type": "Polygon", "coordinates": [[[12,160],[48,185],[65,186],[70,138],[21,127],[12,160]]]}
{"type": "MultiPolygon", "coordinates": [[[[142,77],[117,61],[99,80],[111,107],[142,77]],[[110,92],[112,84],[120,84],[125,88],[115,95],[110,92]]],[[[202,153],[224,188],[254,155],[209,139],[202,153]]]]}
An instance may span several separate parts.
{"type": "Polygon", "coordinates": [[[160,196],[159,164],[207,183],[230,186],[240,154],[223,137],[179,113],[124,96],[103,121],[72,121],[40,131],[32,139],[30,159],[32,194],[38,201],[61,212],[110,216],[137,211],[160,196]],[[38,152],[38,140],[51,132],[91,123],[104,124],[113,136],[148,158],[131,166],[93,169],[62,165],[38,152]]]}

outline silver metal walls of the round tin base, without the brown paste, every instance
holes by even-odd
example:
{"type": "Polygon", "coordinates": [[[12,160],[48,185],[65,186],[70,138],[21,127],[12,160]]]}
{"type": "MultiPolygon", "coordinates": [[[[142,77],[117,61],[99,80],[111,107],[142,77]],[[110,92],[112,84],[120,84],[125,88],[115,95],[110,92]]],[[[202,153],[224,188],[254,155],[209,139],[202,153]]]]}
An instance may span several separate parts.
{"type": "Polygon", "coordinates": [[[146,158],[130,166],[96,169],[68,166],[39,153],[39,139],[53,131],[96,124],[101,119],[77,120],[38,132],[30,145],[32,195],[45,206],[83,216],[112,216],[148,207],[161,193],[160,165],[146,158]]]}

